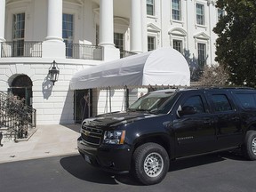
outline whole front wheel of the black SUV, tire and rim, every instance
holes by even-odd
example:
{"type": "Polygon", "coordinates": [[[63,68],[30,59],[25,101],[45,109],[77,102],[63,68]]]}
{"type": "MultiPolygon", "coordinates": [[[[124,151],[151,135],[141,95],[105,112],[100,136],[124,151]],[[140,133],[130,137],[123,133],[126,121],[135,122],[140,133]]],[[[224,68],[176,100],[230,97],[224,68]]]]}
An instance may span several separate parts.
{"type": "Polygon", "coordinates": [[[141,145],[132,156],[132,172],[144,185],[153,185],[164,180],[169,164],[166,150],[156,143],[141,145]]]}

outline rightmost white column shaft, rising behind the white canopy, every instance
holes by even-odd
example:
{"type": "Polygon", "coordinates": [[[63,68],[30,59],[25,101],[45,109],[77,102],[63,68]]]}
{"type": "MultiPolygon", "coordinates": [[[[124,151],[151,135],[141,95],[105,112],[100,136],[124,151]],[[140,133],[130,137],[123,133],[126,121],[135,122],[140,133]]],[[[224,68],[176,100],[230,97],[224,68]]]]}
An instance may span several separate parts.
{"type": "Polygon", "coordinates": [[[142,52],[141,4],[138,0],[132,0],[131,52],[142,52]]]}

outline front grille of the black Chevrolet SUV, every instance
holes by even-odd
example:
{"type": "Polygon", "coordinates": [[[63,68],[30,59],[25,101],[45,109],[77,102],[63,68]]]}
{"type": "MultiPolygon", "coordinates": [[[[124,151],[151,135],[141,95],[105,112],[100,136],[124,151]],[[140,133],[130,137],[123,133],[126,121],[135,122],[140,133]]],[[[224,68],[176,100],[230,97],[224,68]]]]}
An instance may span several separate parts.
{"type": "Polygon", "coordinates": [[[100,145],[101,138],[103,137],[102,130],[84,125],[81,134],[84,142],[91,145],[100,145]]]}

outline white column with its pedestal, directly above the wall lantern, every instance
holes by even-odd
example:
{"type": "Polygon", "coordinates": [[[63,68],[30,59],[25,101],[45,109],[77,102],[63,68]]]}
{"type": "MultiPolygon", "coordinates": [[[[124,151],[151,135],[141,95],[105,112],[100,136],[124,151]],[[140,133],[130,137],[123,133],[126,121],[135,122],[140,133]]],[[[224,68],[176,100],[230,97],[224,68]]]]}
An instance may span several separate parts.
{"type": "Polygon", "coordinates": [[[62,39],[62,0],[48,0],[47,36],[42,49],[43,58],[66,58],[62,39]]]}

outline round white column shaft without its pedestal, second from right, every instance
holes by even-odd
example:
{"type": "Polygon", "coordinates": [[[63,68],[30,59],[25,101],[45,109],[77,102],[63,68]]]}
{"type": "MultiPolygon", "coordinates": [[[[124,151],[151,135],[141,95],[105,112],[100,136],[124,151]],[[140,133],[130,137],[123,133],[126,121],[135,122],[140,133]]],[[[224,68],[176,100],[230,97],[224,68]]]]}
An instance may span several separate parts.
{"type": "Polygon", "coordinates": [[[114,46],[113,0],[100,0],[100,44],[114,46]]]}

